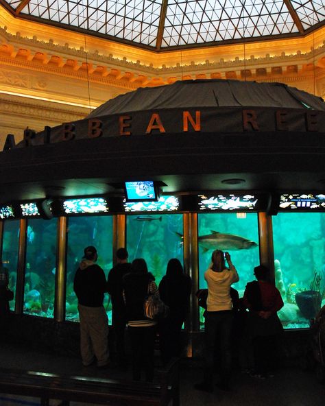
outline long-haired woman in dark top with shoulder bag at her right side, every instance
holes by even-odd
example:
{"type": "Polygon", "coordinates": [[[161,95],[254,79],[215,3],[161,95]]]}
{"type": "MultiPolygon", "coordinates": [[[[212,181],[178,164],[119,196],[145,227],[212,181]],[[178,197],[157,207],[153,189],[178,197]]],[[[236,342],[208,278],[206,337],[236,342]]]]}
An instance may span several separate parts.
{"type": "Polygon", "coordinates": [[[134,259],[130,272],[123,278],[123,298],[131,340],[134,381],[141,380],[142,370],[145,371],[145,381],[152,382],[154,379],[154,342],[157,322],[145,318],[143,311],[146,296],[159,294],[154,280],[143,258],[134,259]]]}

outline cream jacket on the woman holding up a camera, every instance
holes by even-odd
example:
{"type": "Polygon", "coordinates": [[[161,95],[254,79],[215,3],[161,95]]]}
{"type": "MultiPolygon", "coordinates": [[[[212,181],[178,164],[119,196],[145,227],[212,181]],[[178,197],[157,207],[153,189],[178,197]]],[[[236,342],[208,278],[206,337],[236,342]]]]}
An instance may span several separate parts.
{"type": "Polygon", "coordinates": [[[234,265],[221,272],[211,268],[204,272],[204,279],[208,283],[207,311],[223,311],[232,309],[230,286],[239,281],[239,276],[234,265]]]}

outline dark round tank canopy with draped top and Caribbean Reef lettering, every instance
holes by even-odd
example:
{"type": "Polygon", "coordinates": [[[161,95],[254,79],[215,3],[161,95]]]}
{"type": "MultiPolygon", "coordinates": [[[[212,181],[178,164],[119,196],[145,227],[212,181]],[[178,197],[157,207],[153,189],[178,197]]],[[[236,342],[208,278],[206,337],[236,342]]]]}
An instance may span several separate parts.
{"type": "MultiPolygon", "coordinates": [[[[28,126],[28,123],[26,123],[28,126]]],[[[278,83],[196,80],[139,88],[0,157],[2,200],[114,192],[159,180],[167,193],[324,190],[325,103],[278,83]],[[231,182],[240,179],[239,184],[231,182]]]]}

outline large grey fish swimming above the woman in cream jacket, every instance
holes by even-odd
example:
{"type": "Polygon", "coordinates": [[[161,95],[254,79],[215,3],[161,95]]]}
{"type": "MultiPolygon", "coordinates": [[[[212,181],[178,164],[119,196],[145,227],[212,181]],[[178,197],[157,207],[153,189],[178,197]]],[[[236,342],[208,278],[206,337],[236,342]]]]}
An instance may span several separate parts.
{"type": "MultiPolygon", "coordinates": [[[[183,237],[179,232],[177,232],[177,234],[180,237],[183,237]]],[[[198,242],[202,247],[203,252],[208,250],[249,250],[250,248],[257,247],[257,244],[254,241],[250,241],[239,235],[224,234],[213,230],[211,230],[211,234],[200,235],[198,237],[198,242]]]]}

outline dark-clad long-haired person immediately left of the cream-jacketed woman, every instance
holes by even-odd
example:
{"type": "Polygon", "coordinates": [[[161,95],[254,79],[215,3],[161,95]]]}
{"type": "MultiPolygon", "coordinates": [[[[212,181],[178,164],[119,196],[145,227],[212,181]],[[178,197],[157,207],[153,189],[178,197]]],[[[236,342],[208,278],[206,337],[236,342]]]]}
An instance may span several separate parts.
{"type": "Polygon", "coordinates": [[[159,340],[163,364],[182,353],[182,325],[189,312],[192,280],[184,274],[180,261],[170,259],[165,276],[159,284],[161,300],[169,307],[169,317],[160,322],[159,340]]]}

